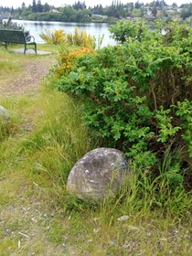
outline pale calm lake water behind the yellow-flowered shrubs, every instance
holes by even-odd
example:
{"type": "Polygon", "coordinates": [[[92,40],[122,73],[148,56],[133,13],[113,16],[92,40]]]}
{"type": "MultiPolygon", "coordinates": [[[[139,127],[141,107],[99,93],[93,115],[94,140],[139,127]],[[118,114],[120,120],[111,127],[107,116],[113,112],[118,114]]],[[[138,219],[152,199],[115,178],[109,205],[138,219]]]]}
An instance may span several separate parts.
{"type": "Polygon", "coordinates": [[[39,37],[39,34],[45,32],[45,28],[50,31],[55,29],[63,29],[66,33],[73,33],[75,27],[85,30],[91,36],[96,38],[104,34],[102,47],[107,45],[115,45],[115,41],[110,38],[111,33],[108,30],[110,24],[107,23],[76,23],[76,22],[57,22],[57,21],[30,21],[30,20],[14,20],[17,25],[22,25],[26,30],[30,30],[30,34],[35,37],[37,44],[43,44],[45,41],[39,37]]]}

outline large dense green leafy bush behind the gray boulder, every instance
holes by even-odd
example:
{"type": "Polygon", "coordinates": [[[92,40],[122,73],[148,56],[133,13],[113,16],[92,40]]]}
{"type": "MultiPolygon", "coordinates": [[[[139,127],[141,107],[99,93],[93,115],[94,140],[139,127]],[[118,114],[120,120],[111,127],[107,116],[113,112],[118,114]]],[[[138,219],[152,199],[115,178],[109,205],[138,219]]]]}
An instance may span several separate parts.
{"type": "Polygon", "coordinates": [[[139,165],[155,166],[170,146],[192,156],[192,29],[151,31],[139,21],[110,30],[121,44],[81,56],[59,90],[83,101],[84,120],[105,145],[139,165]]]}

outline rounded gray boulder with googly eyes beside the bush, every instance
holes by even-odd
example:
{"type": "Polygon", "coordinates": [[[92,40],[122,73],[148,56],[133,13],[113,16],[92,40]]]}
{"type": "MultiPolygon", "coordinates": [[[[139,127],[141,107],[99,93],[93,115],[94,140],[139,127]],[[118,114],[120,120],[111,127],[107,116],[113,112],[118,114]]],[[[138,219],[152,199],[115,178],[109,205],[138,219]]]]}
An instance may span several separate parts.
{"type": "Polygon", "coordinates": [[[114,148],[96,148],[84,155],[69,173],[67,189],[81,199],[112,195],[129,175],[128,161],[123,152],[114,148]]]}

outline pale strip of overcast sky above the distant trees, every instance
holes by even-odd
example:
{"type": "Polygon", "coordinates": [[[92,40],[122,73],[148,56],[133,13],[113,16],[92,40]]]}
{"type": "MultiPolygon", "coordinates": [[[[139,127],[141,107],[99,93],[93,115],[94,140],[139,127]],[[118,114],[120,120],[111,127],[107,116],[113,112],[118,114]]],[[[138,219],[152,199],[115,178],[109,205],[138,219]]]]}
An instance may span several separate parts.
{"type": "MultiPolygon", "coordinates": [[[[55,7],[59,7],[62,5],[73,5],[75,2],[78,3],[79,0],[41,0],[41,5],[45,5],[48,3],[48,5],[54,5],[55,7]]],[[[2,0],[0,1],[2,2],[2,0]]],[[[85,2],[87,7],[94,6],[94,5],[102,5],[105,7],[106,5],[112,5],[112,0],[80,0],[80,2],[85,2]]],[[[122,4],[130,3],[130,2],[137,2],[137,0],[119,0],[122,4]]],[[[139,0],[139,3],[151,3],[153,0],[139,0]]],[[[25,3],[27,6],[32,5],[33,0],[6,0],[4,3],[0,3],[0,5],[3,5],[4,7],[21,7],[22,3],[25,3]]],[[[36,0],[37,3],[37,0],[36,0]]],[[[172,5],[173,3],[176,3],[178,6],[182,4],[190,4],[192,3],[192,0],[165,0],[165,3],[168,5],[172,5]]]]}

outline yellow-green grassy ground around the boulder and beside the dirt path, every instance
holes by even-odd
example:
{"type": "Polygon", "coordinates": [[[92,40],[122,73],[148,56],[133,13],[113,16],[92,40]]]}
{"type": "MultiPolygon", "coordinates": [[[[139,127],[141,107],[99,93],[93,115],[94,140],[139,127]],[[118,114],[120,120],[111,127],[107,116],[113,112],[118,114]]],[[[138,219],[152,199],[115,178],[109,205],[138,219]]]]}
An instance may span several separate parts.
{"type": "MultiPolygon", "coordinates": [[[[28,61],[57,56],[57,47],[38,49],[53,54],[0,48],[0,84],[22,80],[28,61]]],[[[69,197],[70,168],[99,144],[80,119],[80,105],[52,83],[48,76],[34,91],[0,96],[11,113],[1,124],[0,255],[191,255],[191,195],[169,194],[164,176],[156,180],[162,187],[156,195],[147,170],[132,165],[117,197],[99,205],[69,197]]]]}

